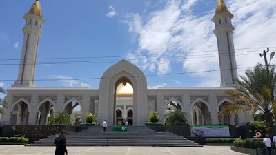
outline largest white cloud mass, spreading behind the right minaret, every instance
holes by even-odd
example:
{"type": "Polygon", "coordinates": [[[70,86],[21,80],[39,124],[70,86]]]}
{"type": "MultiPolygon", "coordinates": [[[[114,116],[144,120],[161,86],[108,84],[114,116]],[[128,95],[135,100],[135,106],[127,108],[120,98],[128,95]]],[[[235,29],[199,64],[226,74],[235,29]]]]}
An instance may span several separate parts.
{"type": "MultiPolygon", "coordinates": [[[[128,14],[129,32],[137,34],[139,43],[139,52],[128,55],[133,58],[135,54],[144,54],[147,58],[144,66],[151,72],[155,72],[155,66],[159,75],[170,72],[172,62],[182,63],[184,72],[219,70],[217,39],[213,34],[215,25],[211,21],[215,6],[208,12],[196,14],[191,7],[202,5],[197,2],[199,0],[168,0],[164,8],[147,15],[128,14]]],[[[226,3],[235,15],[232,21],[235,48],[243,49],[235,51],[237,68],[263,62],[259,52],[266,50],[267,46],[274,46],[271,50],[276,50],[276,33],[273,31],[276,27],[276,1],[229,0],[226,3]],[[247,52],[245,48],[254,49],[247,52]]],[[[143,65],[143,62],[137,64],[143,65]]],[[[239,74],[243,71],[239,70],[239,74]]],[[[198,86],[219,87],[219,72],[190,76],[201,77],[198,86]]]]}

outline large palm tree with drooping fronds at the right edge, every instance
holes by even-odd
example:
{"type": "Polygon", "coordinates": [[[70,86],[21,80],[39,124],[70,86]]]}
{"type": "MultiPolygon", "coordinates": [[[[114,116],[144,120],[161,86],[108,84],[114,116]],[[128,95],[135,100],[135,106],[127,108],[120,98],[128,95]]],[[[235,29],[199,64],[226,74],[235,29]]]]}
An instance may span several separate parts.
{"type": "Polygon", "coordinates": [[[271,67],[269,74],[266,68],[258,63],[253,70],[246,70],[246,76],[236,80],[236,90],[226,90],[226,94],[233,96],[234,100],[226,105],[219,113],[230,114],[238,112],[256,112],[264,114],[268,133],[273,135],[273,114],[275,114],[275,67],[271,67]]]}

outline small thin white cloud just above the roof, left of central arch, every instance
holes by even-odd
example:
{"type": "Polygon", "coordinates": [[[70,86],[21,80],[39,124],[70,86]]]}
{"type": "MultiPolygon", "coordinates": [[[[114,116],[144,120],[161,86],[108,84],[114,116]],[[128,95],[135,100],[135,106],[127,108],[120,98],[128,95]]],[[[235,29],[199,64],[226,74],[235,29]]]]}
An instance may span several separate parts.
{"type": "Polygon", "coordinates": [[[63,83],[64,87],[90,87],[87,83],[81,83],[77,80],[74,80],[71,76],[53,76],[53,79],[59,79],[63,83]]]}

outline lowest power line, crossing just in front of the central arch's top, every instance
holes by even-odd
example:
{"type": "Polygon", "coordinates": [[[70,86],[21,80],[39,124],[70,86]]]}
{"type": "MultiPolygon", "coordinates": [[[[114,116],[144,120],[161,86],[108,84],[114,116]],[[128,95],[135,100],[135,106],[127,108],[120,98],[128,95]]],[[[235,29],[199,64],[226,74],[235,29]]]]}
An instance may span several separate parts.
{"type": "MultiPolygon", "coordinates": [[[[248,69],[254,67],[245,67],[245,68],[235,68],[236,70],[240,69],[248,69]]],[[[231,70],[231,69],[227,69],[231,70]]],[[[126,78],[135,78],[135,77],[147,77],[147,76],[171,76],[171,75],[180,75],[180,74],[197,74],[197,73],[204,73],[204,72],[219,72],[221,70],[205,70],[205,71],[198,71],[198,72],[179,72],[179,73],[170,73],[170,74],[148,74],[144,76],[126,76],[126,78]]],[[[225,71],[225,70],[222,70],[225,71]]],[[[112,79],[114,77],[96,77],[96,78],[77,78],[77,79],[37,79],[35,81],[80,81],[80,80],[96,80],[96,79],[112,79]]],[[[116,77],[115,77],[116,78],[116,77]]],[[[120,77],[118,77],[120,78],[120,77]]],[[[8,79],[0,79],[0,81],[16,81],[16,80],[8,80],[8,79]]],[[[23,80],[23,81],[30,81],[30,80],[23,80]]]]}

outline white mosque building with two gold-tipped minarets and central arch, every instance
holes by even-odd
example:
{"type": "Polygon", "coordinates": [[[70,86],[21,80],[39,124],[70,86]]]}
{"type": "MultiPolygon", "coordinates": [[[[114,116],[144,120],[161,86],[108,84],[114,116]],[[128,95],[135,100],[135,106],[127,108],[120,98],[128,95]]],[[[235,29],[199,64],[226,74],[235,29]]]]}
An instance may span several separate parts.
{"type": "Polygon", "coordinates": [[[164,122],[168,113],[175,109],[186,112],[189,123],[194,125],[234,125],[234,122],[244,125],[253,121],[247,113],[217,117],[221,108],[231,101],[224,91],[233,89],[234,79],[238,77],[232,18],[224,1],[218,0],[212,21],[217,37],[221,87],[150,89],[144,73],[124,59],[104,72],[99,89],[36,87],[34,76],[45,20],[39,1],[34,1],[24,16],[26,25],[19,74],[7,90],[5,100],[10,105],[1,121],[3,124],[42,125],[47,123],[49,114],[59,110],[68,112],[73,121],[81,118],[84,121],[86,114],[91,112],[99,122],[106,120],[108,125],[120,125],[126,119],[130,125],[143,126],[150,112],[157,112],[164,122]],[[73,112],[78,105],[80,112],[73,112]]]}

